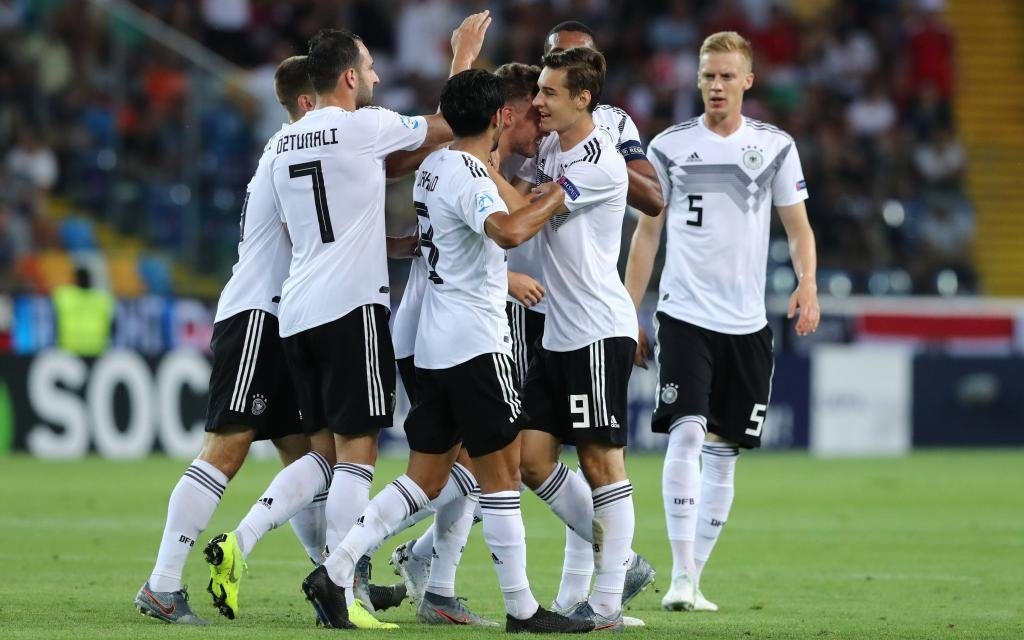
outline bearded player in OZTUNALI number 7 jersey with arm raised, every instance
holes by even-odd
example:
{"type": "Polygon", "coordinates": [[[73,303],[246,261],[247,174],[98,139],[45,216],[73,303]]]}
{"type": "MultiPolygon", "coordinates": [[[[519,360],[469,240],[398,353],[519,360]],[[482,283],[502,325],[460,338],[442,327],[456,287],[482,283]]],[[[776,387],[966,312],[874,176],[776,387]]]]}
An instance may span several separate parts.
{"type": "MultiPolygon", "coordinates": [[[[467,68],[489,24],[456,57],[467,68]]],[[[451,138],[440,115],[407,118],[370,106],[379,82],[362,41],[325,29],[309,44],[316,108],[279,135],[268,172],[292,239],[280,333],[312,452],[274,477],[238,528],[208,545],[215,591],[237,602],[241,566],[258,540],[330,486],[328,540],[340,540],[369,501],[377,436],[391,425],[385,159],[451,138]],[[334,477],[331,462],[337,458],[334,477]]],[[[353,623],[376,621],[361,605],[353,623]],[[365,616],[360,615],[365,614],[365,616]]]]}

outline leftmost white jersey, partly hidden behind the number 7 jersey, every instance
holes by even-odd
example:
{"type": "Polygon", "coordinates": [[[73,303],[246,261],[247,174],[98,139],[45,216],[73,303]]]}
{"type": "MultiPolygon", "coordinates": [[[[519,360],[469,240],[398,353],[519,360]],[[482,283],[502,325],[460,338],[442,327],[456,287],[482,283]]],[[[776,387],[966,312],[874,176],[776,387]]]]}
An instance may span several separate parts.
{"type": "Polygon", "coordinates": [[[214,322],[250,309],[278,314],[281,286],[288,276],[288,263],[292,259],[292,243],[281,225],[274,204],[270,159],[278,136],[286,126],[267,141],[256,173],[246,187],[239,222],[239,261],[231,267],[231,278],[220,292],[214,322]]]}

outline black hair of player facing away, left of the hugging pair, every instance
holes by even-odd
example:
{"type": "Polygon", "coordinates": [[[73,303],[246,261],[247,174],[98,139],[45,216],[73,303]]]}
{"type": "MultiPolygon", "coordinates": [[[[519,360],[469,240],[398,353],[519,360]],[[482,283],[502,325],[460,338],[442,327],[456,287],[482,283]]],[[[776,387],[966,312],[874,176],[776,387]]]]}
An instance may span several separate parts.
{"type": "Polygon", "coordinates": [[[487,130],[490,117],[505,103],[505,82],[481,69],[449,78],[441,89],[441,115],[458,137],[487,130]]]}

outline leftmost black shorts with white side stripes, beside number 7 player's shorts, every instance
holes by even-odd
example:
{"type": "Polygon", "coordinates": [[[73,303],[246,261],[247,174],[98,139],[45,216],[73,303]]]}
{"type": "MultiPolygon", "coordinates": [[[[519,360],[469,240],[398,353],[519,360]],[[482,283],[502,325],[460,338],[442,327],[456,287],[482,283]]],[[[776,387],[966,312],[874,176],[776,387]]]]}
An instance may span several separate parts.
{"type": "Polygon", "coordinates": [[[213,326],[206,430],[254,430],[254,439],[302,433],[299,407],[272,313],[251,309],[213,326]]]}

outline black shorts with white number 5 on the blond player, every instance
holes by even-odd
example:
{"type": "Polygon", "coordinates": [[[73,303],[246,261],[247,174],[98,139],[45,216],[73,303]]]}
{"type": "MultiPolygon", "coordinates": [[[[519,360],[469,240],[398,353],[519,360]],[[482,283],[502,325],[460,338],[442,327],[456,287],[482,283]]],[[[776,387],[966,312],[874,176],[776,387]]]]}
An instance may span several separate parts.
{"type": "Polygon", "coordinates": [[[730,442],[761,445],[774,371],[771,327],[753,334],[711,331],[658,312],[658,392],[651,429],[668,433],[682,416],[703,416],[730,442]]]}

